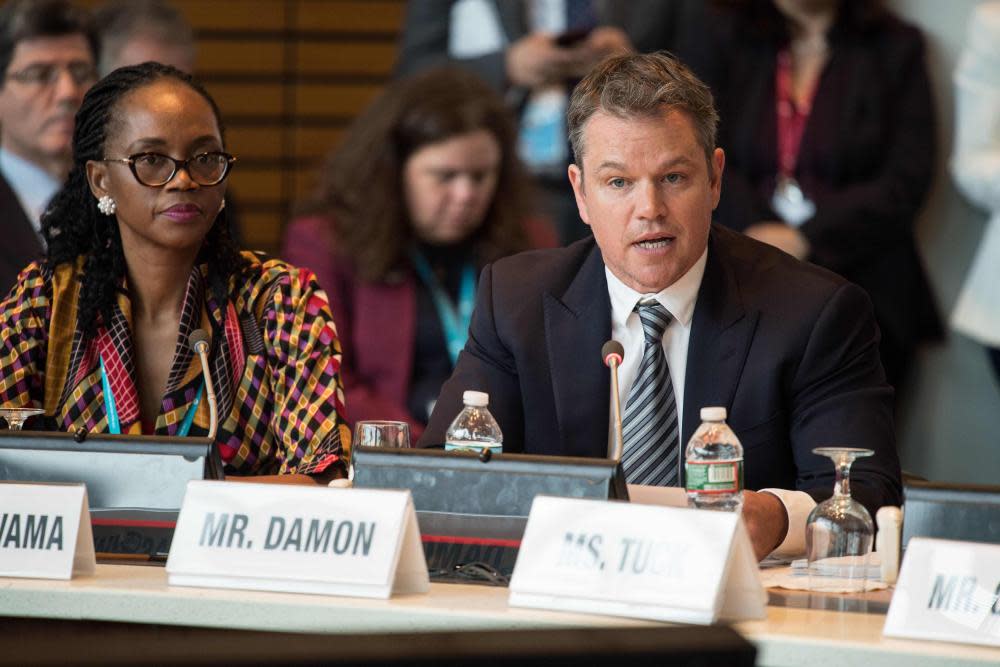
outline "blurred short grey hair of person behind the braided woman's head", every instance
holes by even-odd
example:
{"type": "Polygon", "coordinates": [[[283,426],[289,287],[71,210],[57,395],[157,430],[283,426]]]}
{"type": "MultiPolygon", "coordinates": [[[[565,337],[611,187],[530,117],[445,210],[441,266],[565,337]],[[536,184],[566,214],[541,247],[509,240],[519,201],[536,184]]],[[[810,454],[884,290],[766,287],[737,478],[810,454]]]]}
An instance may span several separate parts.
{"type": "Polygon", "coordinates": [[[111,0],[94,12],[101,31],[98,69],[107,74],[122,49],[136,38],[152,39],[185,49],[194,60],[194,30],[184,16],[162,0],[111,0]]]}

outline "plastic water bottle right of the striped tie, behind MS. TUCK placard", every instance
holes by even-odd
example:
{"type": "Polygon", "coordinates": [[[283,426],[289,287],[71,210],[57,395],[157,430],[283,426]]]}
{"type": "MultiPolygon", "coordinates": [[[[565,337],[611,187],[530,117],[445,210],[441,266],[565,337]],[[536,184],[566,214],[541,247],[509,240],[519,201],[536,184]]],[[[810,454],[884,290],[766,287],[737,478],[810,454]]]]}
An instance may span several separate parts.
{"type": "Polygon", "coordinates": [[[725,408],[701,409],[701,426],[684,454],[684,485],[688,507],[743,508],[743,445],[726,424],[725,408]]]}

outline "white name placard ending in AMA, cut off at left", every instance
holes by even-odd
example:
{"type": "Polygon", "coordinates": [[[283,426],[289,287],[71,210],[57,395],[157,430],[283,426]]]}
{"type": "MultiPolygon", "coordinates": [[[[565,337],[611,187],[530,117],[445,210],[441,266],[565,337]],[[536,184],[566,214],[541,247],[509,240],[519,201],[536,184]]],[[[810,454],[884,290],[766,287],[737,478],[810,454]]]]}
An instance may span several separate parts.
{"type": "Polygon", "coordinates": [[[0,576],[70,579],[95,566],[87,487],[0,482],[0,576]]]}

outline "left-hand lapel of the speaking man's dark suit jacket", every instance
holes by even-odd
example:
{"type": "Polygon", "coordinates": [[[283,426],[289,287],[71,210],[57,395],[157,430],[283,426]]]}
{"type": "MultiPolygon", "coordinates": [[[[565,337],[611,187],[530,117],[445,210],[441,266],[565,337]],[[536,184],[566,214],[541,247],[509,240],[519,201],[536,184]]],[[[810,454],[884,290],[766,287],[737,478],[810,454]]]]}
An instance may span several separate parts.
{"type": "Polygon", "coordinates": [[[601,347],[611,335],[611,300],[596,244],[563,294],[544,295],[543,309],[560,451],[607,456],[611,380],[601,347]]]}

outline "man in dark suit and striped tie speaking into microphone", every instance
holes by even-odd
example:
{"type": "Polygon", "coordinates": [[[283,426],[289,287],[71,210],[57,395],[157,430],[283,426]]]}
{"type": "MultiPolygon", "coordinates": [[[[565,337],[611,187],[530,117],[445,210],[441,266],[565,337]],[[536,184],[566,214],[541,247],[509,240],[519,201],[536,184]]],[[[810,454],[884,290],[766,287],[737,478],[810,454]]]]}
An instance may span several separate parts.
{"type": "Polygon", "coordinates": [[[755,490],[743,515],[758,556],[801,552],[806,516],[833,488],[814,447],[874,450],[852,493],[873,515],[900,502],[892,390],[862,290],[711,224],[717,118],[708,88],[666,54],[612,58],[576,87],[569,177],[594,239],[483,271],[468,344],[420,444],[443,442],[463,390],[478,389],[505,451],[606,456],[601,347],[613,337],[625,347],[627,479],[683,484],[699,409],[724,406],[755,490]],[[666,325],[655,335],[650,312],[666,325]],[[630,412],[647,408],[662,430],[630,441],[630,412]]]}

